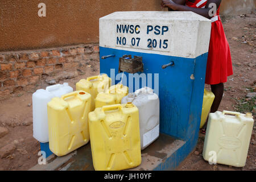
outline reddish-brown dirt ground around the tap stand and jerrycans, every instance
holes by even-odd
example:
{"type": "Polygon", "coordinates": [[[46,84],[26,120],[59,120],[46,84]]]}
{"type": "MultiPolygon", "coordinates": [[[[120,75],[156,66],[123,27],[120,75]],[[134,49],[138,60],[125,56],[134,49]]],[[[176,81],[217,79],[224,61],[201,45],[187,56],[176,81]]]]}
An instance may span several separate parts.
{"type": "MultiPolygon", "coordinates": [[[[225,84],[224,97],[219,110],[233,110],[253,112],[256,117],[256,102],[254,98],[246,98],[249,92],[256,92],[256,52],[255,27],[256,15],[248,14],[233,18],[222,19],[226,37],[232,54],[234,75],[228,78],[225,84]]],[[[61,80],[59,83],[69,82],[75,89],[75,83],[81,78],[97,75],[99,62],[88,61],[81,63],[79,69],[69,70],[77,72],[78,76],[72,79],[61,80]]],[[[65,73],[61,73],[65,74],[65,73]]],[[[15,150],[5,158],[0,159],[0,170],[27,170],[38,163],[39,143],[32,134],[32,93],[36,89],[46,88],[45,80],[30,92],[15,94],[15,97],[0,101],[0,126],[6,127],[9,133],[0,138],[0,148],[13,143],[15,150]]],[[[207,86],[209,89],[209,86],[207,86]]],[[[201,152],[203,150],[204,135],[200,134],[196,152],[185,159],[177,170],[255,170],[255,125],[251,137],[246,166],[235,168],[224,165],[210,165],[205,162],[201,152]],[[197,154],[197,155],[196,155],[197,154]]]]}

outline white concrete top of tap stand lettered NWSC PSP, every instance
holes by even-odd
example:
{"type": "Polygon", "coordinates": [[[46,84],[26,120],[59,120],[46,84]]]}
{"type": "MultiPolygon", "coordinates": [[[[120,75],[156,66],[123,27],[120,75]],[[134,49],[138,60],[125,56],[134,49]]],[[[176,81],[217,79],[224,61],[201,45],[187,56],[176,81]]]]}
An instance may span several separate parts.
{"type": "Polygon", "coordinates": [[[191,11],[120,11],[100,18],[100,46],[143,53],[195,58],[208,52],[211,21],[191,11]],[[117,25],[139,25],[139,34],[117,32],[117,25]],[[168,31],[155,35],[147,34],[147,26],[168,26],[168,31]],[[118,44],[118,38],[126,38],[125,46],[118,44]],[[140,38],[139,46],[131,46],[132,38],[140,38]],[[156,39],[155,48],[148,48],[148,39],[156,39]],[[159,48],[160,40],[168,40],[168,48],[159,48]]]}

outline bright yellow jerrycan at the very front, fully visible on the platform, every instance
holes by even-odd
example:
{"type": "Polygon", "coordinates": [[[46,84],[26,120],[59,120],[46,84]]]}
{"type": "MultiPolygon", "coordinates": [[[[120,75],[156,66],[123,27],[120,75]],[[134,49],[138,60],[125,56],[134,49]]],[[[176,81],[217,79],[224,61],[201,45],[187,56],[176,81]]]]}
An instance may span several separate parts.
{"type": "Polygon", "coordinates": [[[89,128],[94,169],[113,171],[141,164],[139,111],[131,102],[96,108],[89,113],[89,128]]]}

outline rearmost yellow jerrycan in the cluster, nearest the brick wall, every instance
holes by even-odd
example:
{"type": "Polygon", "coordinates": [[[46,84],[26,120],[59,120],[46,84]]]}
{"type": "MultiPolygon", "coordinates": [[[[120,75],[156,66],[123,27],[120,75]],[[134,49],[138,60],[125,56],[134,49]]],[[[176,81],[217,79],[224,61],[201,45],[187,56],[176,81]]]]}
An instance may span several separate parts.
{"type": "Polygon", "coordinates": [[[95,109],[95,98],[98,93],[105,92],[111,85],[111,78],[106,74],[81,79],[76,83],[76,90],[84,90],[92,96],[92,109],[95,109]]]}

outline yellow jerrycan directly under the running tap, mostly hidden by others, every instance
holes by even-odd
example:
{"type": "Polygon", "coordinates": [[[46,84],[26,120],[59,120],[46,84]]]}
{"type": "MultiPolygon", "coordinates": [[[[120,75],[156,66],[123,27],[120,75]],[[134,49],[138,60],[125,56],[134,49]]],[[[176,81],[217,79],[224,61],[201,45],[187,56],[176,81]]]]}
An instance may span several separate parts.
{"type": "Polygon", "coordinates": [[[123,97],[127,96],[129,88],[123,84],[110,86],[105,93],[98,93],[95,99],[95,107],[102,107],[105,105],[121,104],[123,97]]]}

